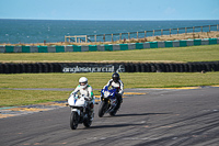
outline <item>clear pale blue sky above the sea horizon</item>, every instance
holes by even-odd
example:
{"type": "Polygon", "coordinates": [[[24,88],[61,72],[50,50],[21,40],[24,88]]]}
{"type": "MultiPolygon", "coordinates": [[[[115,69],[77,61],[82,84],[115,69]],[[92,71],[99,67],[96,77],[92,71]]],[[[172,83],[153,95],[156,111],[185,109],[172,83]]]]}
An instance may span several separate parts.
{"type": "Polygon", "coordinates": [[[219,0],[0,0],[0,19],[219,20],[219,0]]]}

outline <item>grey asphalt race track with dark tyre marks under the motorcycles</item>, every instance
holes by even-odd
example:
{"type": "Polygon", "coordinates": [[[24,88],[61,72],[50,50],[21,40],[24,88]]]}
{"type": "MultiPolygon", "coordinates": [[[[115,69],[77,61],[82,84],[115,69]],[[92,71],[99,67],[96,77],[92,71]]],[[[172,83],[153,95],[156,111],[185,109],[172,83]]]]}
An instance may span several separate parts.
{"type": "Polygon", "coordinates": [[[72,131],[70,109],[0,119],[1,146],[218,146],[219,88],[126,89],[116,116],[72,131]]]}

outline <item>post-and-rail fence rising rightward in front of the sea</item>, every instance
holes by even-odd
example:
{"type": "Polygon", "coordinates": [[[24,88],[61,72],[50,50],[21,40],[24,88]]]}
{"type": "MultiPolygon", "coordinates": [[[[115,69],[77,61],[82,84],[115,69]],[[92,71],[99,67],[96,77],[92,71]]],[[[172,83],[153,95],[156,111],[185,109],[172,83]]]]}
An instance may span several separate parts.
{"type": "Polygon", "coordinates": [[[112,33],[112,34],[96,34],[96,35],[74,35],[65,36],[65,42],[73,43],[89,43],[89,42],[116,42],[122,40],[131,38],[147,38],[149,36],[163,36],[173,34],[187,34],[197,32],[211,32],[219,31],[219,24],[216,25],[203,25],[192,27],[177,27],[177,29],[162,29],[152,31],[140,31],[140,32],[127,32],[127,33],[112,33]]]}

